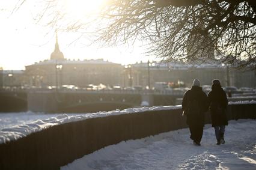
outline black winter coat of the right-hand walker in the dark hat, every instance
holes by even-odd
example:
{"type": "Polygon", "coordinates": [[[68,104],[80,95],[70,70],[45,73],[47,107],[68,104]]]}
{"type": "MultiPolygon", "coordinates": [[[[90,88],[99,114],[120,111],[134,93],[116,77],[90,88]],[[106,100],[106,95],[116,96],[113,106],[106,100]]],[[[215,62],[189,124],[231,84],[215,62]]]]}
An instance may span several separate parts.
{"type": "Polygon", "coordinates": [[[207,100],[210,105],[212,126],[228,125],[226,114],[228,99],[225,91],[220,85],[212,85],[212,91],[209,92],[207,100]]]}

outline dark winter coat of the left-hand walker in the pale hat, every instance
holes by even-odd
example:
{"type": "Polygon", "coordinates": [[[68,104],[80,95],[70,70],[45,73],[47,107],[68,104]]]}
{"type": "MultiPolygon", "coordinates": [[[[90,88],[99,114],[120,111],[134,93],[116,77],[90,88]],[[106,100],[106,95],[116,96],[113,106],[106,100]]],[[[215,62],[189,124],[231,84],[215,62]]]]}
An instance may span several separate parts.
{"type": "Polygon", "coordinates": [[[182,110],[187,117],[187,124],[189,126],[204,126],[204,112],[208,109],[207,96],[201,87],[193,86],[190,90],[186,91],[182,100],[182,110]],[[198,114],[187,114],[189,110],[189,103],[192,100],[197,100],[200,112],[198,114]]]}

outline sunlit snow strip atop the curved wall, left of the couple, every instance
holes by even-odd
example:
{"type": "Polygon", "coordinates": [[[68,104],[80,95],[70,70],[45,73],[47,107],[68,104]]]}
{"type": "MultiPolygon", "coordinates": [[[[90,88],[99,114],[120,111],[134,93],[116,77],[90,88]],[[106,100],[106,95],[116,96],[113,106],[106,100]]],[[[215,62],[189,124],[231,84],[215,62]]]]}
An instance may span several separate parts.
{"type": "Polygon", "coordinates": [[[69,116],[67,114],[62,114],[62,115],[58,115],[57,117],[47,118],[44,120],[37,120],[32,123],[21,124],[19,126],[1,129],[0,144],[25,137],[31,133],[39,132],[43,129],[47,129],[51,126],[55,126],[58,124],[64,124],[64,123],[69,123],[73,121],[81,121],[88,118],[106,117],[109,115],[132,114],[132,113],[139,113],[139,112],[163,111],[163,110],[172,110],[172,109],[181,109],[181,105],[153,106],[151,108],[147,108],[147,107],[129,108],[129,109],[124,109],[123,111],[120,111],[117,109],[115,111],[97,112],[93,114],[77,115],[77,116],[69,116]]]}

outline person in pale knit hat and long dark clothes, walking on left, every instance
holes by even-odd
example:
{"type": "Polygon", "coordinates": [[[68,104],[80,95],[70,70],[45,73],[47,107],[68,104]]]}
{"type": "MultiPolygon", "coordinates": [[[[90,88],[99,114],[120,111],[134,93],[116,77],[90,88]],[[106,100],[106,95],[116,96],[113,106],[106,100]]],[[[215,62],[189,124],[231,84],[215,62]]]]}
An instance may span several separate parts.
{"type": "Polygon", "coordinates": [[[200,81],[194,79],[192,88],[183,96],[182,109],[187,117],[190,139],[196,145],[200,145],[203,136],[204,112],[207,111],[207,106],[207,96],[200,87],[200,81]]]}

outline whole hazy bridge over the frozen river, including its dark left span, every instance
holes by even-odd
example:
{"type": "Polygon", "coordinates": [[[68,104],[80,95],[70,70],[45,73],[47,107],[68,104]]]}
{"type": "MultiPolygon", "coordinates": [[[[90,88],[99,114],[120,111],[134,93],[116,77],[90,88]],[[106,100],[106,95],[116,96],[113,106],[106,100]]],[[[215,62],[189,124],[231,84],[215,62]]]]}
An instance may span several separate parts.
{"type": "Polygon", "coordinates": [[[0,89],[0,112],[98,112],[175,105],[183,91],[0,89]]]}

